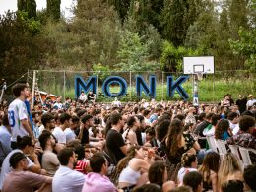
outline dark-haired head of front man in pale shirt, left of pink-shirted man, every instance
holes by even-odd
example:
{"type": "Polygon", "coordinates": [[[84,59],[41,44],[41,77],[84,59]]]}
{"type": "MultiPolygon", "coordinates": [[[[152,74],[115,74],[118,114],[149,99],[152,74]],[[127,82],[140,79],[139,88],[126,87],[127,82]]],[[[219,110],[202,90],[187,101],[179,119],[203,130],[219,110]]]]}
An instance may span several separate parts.
{"type": "Polygon", "coordinates": [[[63,148],[58,153],[58,160],[63,166],[73,165],[72,168],[74,168],[74,165],[77,162],[75,152],[72,148],[63,148]]]}

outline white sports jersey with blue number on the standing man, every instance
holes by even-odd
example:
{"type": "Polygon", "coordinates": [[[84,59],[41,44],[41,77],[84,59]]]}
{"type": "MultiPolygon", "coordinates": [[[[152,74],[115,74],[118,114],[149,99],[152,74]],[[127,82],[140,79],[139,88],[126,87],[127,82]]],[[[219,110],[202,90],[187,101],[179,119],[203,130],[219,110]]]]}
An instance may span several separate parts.
{"type": "Polygon", "coordinates": [[[16,98],[8,107],[8,119],[12,129],[11,141],[16,142],[17,136],[24,137],[29,133],[24,128],[21,120],[28,119],[28,112],[24,101],[16,98]]]}

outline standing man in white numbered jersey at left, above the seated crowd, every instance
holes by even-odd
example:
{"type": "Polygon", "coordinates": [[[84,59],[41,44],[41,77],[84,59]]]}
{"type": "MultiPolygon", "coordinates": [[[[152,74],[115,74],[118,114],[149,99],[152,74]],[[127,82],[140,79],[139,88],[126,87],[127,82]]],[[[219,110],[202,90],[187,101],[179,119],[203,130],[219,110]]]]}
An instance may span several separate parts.
{"type": "Polygon", "coordinates": [[[34,136],[24,103],[24,100],[30,96],[30,90],[26,84],[18,83],[13,86],[12,91],[16,99],[8,107],[8,118],[12,129],[11,146],[16,149],[17,136],[30,135],[32,139],[34,136]]]}

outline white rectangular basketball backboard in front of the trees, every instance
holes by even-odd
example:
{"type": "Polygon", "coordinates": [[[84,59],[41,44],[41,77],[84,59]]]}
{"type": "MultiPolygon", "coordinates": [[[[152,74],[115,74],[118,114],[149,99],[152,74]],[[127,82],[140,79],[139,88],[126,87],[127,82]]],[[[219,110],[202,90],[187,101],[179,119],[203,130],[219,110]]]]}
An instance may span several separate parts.
{"type": "Polygon", "coordinates": [[[184,74],[213,74],[215,64],[213,56],[183,57],[184,74]]]}

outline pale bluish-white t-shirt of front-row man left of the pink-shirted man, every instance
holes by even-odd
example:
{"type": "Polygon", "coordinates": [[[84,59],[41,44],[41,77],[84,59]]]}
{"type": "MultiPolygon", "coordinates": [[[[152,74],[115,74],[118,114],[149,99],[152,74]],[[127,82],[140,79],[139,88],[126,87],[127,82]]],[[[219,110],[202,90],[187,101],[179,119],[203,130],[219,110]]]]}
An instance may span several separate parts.
{"type": "Polygon", "coordinates": [[[81,192],[85,175],[67,166],[60,166],[52,180],[52,192],[81,192]]]}

